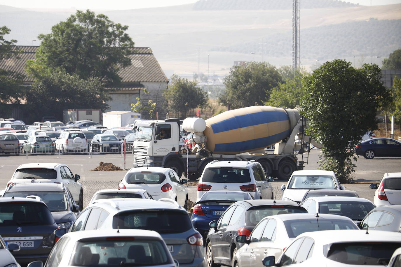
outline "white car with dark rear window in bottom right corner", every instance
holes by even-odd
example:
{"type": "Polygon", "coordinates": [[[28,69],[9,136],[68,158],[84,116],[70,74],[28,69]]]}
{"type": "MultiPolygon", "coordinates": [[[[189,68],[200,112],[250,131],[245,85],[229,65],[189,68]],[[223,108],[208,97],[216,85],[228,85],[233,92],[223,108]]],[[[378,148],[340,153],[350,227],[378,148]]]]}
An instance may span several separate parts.
{"type": "Polygon", "coordinates": [[[385,266],[401,247],[401,233],[365,230],[329,230],[299,235],[276,259],[263,259],[264,266],[385,266]]]}

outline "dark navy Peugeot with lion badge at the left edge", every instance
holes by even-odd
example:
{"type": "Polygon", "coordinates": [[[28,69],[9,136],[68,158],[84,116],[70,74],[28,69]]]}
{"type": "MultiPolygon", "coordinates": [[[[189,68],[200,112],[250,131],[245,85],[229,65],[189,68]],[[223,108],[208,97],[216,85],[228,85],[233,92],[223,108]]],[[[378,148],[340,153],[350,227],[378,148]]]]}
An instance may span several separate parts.
{"type": "Polygon", "coordinates": [[[38,197],[0,198],[0,235],[6,243],[20,246],[19,251],[12,251],[20,265],[45,262],[55,244],[56,229],[53,216],[38,197]]]}

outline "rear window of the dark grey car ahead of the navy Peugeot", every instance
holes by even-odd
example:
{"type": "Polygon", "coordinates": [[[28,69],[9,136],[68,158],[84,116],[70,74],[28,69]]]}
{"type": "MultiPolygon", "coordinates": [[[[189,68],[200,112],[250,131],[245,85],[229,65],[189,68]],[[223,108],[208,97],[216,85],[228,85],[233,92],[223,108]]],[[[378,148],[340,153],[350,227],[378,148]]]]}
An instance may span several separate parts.
{"type": "Polygon", "coordinates": [[[67,211],[67,199],[63,192],[7,192],[3,197],[28,197],[38,196],[49,208],[49,211],[67,211]]]}

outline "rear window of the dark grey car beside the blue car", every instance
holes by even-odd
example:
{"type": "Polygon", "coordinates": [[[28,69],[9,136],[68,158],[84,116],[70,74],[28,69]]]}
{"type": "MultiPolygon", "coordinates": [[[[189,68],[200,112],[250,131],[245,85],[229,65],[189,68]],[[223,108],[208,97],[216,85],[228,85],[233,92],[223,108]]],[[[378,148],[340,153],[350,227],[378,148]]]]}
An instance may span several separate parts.
{"type": "Polygon", "coordinates": [[[266,216],[287,213],[308,213],[308,211],[304,207],[292,205],[253,206],[245,212],[245,223],[249,226],[256,226],[266,216]]]}

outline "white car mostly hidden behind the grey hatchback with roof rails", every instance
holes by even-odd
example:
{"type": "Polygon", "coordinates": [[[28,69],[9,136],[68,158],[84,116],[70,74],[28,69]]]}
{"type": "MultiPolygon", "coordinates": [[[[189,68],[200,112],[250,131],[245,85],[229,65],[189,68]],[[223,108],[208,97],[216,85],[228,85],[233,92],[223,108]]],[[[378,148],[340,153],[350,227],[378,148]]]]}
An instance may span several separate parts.
{"type": "Polygon", "coordinates": [[[89,205],[95,203],[99,199],[119,199],[119,198],[130,198],[130,199],[153,199],[149,193],[144,189],[103,189],[97,191],[89,205]]]}

